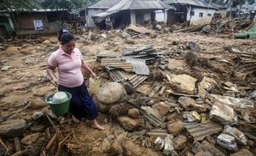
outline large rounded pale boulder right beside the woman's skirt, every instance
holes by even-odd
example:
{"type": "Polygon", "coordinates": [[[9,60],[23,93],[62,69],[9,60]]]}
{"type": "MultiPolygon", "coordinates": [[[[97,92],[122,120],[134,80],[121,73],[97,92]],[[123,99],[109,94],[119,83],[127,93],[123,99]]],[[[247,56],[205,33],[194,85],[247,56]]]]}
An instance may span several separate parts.
{"type": "Polygon", "coordinates": [[[102,85],[97,94],[97,99],[101,103],[110,104],[121,102],[121,99],[126,95],[126,89],[120,83],[111,82],[102,85]]]}

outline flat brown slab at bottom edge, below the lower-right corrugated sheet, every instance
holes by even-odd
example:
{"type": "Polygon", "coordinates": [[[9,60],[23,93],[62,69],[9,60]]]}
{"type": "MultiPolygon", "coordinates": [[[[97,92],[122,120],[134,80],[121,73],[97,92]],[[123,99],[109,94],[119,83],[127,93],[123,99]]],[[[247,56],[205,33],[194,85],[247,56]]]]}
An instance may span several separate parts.
{"type": "Polygon", "coordinates": [[[219,149],[216,149],[214,145],[211,145],[208,141],[203,140],[201,144],[195,141],[192,146],[192,153],[197,154],[198,152],[209,152],[212,155],[225,156],[219,149]]]}

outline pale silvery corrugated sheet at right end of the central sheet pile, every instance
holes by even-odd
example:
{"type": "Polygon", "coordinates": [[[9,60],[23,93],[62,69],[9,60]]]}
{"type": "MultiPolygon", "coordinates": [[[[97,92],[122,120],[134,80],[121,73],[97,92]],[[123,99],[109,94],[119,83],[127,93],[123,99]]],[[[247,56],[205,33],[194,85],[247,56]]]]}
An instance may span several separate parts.
{"type": "Polygon", "coordinates": [[[138,75],[149,76],[149,67],[146,65],[145,59],[124,57],[126,62],[129,62],[133,66],[133,70],[138,75]]]}

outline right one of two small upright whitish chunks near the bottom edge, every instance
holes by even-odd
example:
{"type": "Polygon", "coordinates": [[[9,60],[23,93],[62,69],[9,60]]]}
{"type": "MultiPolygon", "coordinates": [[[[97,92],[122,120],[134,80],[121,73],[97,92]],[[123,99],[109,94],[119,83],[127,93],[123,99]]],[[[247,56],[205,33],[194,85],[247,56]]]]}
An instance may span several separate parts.
{"type": "Polygon", "coordinates": [[[165,155],[178,155],[173,147],[173,135],[167,135],[164,138],[164,154],[165,155]]]}

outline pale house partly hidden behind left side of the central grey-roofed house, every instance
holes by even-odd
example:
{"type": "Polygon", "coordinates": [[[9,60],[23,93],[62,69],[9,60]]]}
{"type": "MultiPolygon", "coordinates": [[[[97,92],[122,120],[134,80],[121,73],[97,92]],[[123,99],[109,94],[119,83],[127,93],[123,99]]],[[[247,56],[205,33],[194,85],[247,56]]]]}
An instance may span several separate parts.
{"type": "Polygon", "coordinates": [[[97,2],[92,3],[89,7],[85,10],[85,20],[86,25],[88,27],[95,26],[94,21],[92,20],[92,16],[107,11],[110,7],[114,6],[117,2],[121,0],[99,0],[97,2]]]}

